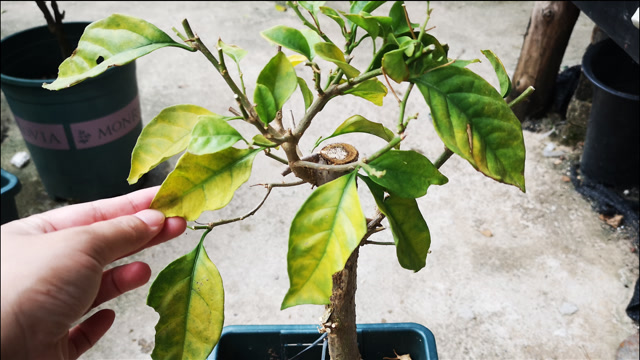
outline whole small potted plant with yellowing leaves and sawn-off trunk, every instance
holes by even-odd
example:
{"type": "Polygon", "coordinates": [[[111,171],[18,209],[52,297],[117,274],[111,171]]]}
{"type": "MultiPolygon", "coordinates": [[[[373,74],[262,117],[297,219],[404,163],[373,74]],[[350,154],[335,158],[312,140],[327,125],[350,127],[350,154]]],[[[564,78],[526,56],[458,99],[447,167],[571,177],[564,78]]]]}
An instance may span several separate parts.
{"type": "MultiPolygon", "coordinates": [[[[238,350],[229,348],[233,342],[242,348],[259,348],[263,346],[259,342],[267,342],[251,337],[250,343],[256,345],[250,345],[247,335],[235,336],[239,332],[235,327],[225,330],[221,340],[222,279],[206,253],[204,241],[214,228],[256,214],[273,188],[286,191],[301,184],[313,186],[288,229],[290,288],[282,309],[302,304],[325,305],[320,324],[311,327],[311,335],[318,340],[327,339],[334,360],[369,354],[368,350],[359,349],[359,343],[382,343],[384,338],[376,337],[376,331],[368,325],[356,326],[359,247],[376,243],[369,237],[383,230],[381,223],[386,218],[393,237],[389,243],[395,246],[400,265],[412,271],[422,269],[431,239],[416,199],[426,195],[431,185],[447,183],[439,168],[453,154],[484,175],[525,191],[522,128],[510,107],[529,92],[507,104],[504,98],[511,84],[495,54],[482,51],[495,69],[498,90],[466,68],[478,59],[448,57],[449,47],[428,32],[430,10],[426,17],[421,14],[424,18],[416,24],[412,20],[417,15],[409,14],[403,2],[393,3],[386,14],[373,15],[381,4],[352,2],[347,10],[340,11],[323,2],[287,2],[303,26],[298,29],[278,25],[261,33],[276,47],[255,85],[249,87],[240,70],[247,52],[240,47],[222,40],[214,47],[207,45],[186,19],[182,22],[183,32],[173,29],[180,39],[176,41],[142,19],[114,14],[88,26],[83,35],[99,41],[102,47],[83,46],[81,42],[74,55],[60,66],[57,80],[45,85],[61,90],[160,48],[199,52],[234,94],[236,103],[230,104],[230,114],[215,114],[191,104],[162,110],[138,138],[128,181],[135,183],[158,164],[184,152],[151,207],[166,216],[194,221],[203,212],[221,209],[231,201],[235,191],[248,180],[259,155],[282,163],[283,175],[292,173],[297,178],[265,184],[265,197],[243,216],[191,227],[203,232],[200,242],[192,252],[169,264],[149,290],[147,303],[160,315],[153,358],[204,359],[219,341],[211,357],[233,354],[234,358],[242,358],[238,350]],[[342,37],[330,38],[323,32],[318,25],[321,17],[335,23],[342,37]],[[368,56],[368,65],[352,63],[356,54],[368,56]],[[229,71],[232,63],[238,68],[238,77],[229,71]],[[393,82],[403,87],[402,96],[394,91],[393,82]],[[294,116],[295,124],[288,125],[289,121],[283,120],[284,106],[298,91],[304,110],[294,116]],[[411,125],[419,121],[417,114],[405,113],[412,91],[421,95],[418,98],[424,101],[425,111],[427,106],[431,110],[434,128],[445,146],[433,162],[416,151],[402,149],[402,141],[413,129],[411,125]],[[317,121],[323,108],[343,96],[363,98],[372,106],[382,104],[385,96],[390,101],[395,99],[399,104],[396,127],[389,129],[345,109],[344,121],[335,131],[311,134],[310,125],[317,121]],[[242,135],[233,126],[234,121],[249,124],[253,133],[242,135]],[[380,138],[384,145],[366,157],[360,156],[357,144],[326,145],[329,139],[350,133],[380,138]],[[302,153],[298,145],[303,137],[310,136],[318,139],[315,148],[320,150],[302,153]],[[357,186],[367,188],[377,205],[370,217],[361,208],[357,186]],[[229,341],[224,342],[224,338],[229,341]]],[[[308,344],[309,329],[303,329],[306,334],[294,334],[296,339],[287,344],[308,344]]],[[[280,341],[284,333],[291,335],[290,331],[297,330],[300,329],[262,328],[256,333],[280,341]]],[[[411,337],[407,327],[402,331],[399,339],[411,337]]],[[[422,355],[399,350],[397,358],[434,358],[433,336],[424,331],[421,334],[426,335],[415,337],[419,338],[418,343],[422,342],[422,355]]],[[[398,346],[404,346],[402,340],[397,341],[398,346]]],[[[264,345],[262,355],[250,353],[246,357],[295,355],[287,344],[269,344],[264,345]]],[[[304,348],[298,346],[296,350],[304,348]]],[[[396,356],[394,350],[398,348],[390,346],[383,356],[396,356]]],[[[315,347],[310,351],[316,351],[315,347]]]]}

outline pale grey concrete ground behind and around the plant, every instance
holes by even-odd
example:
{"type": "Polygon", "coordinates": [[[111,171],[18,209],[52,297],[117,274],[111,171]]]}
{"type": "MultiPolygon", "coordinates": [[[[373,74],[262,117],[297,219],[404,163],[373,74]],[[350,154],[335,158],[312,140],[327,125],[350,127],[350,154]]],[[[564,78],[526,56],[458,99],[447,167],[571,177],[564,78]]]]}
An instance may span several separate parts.
{"type": "MultiPolygon", "coordinates": [[[[242,67],[250,92],[275,51],[259,31],[278,24],[299,27],[295,14],[276,11],[274,2],[63,1],[59,5],[67,21],[93,21],[118,12],[144,18],[171,35],[171,28],[181,28],[182,19],[187,18],[211,47],[220,37],[249,51],[242,67]]],[[[530,1],[432,2],[430,25],[437,26],[432,33],[450,45],[451,57],[480,57],[480,50],[492,49],[513,74],[532,6],[530,1]]],[[[412,14],[415,11],[414,22],[422,20],[424,4],[411,2],[408,8],[412,14]]],[[[34,2],[3,1],[1,19],[3,38],[44,24],[34,2]]],[[[332,24],[323,21],[325,30],[335,34],[332,24]]],[[[563,66],[580,64],[593,26],[581,14],[563,66]]],[[[201,54],[162,49],[137,64],[144,122],[163,108],[181,103],[220,114],[228,114],[228,107],[234,105],[231,92],[201,54]]],[[[486,61],[473,69],[497,84],[486,61]]],[[[402,92],[399,86],[394,88],[402,92]]],[[[319,135],[327,135],[353,114],[393,126],[397,107],[390,96],[382,108],[359,98],[338,99],[309,129],[312,135],[302,143],[302,150],[308,152],[319,135]]],[[[414,103],[407,114],[420,112],[420,117],[412,122],[403,147],[434,160],[442,143],[428,120],[428,110],[420,108],[418,92],[412,96],[414,103]]],[[[300,103],[293,100],[296,119],[300,103]]],[[[3,133],[7,126],[2,167],[22,182],[17,196],[21,216],[64,205],[47,198],[32,163],[23,169],[9,164],[13,154],[24,150],[24,143],[4,95],[2,124],[3,133]]],[[[362,139],[356,135],[339,140],[353,140],[365,156],[380,146],[361,146],[362,139]]],[[[458,157],[450,159],[441,169],[449,183],[432,187],[419,200],[432,236],[426,268],[418,273],[402,269],[391,247],[363,248],[358,321],[423,324],[434,333],[442,359],[616,358],[621,342],[637,336],[624,310],[638,277],[638,256],[632,252],[629,236],[606,225],[571,183],[563,181],[567,159],[579,156],[579,150],[565,149],[564,157],[545,157],[549,142],[545,134],[525,132],[526,194],[484,177],[458,157]]],[[[162,181],[168,170],[168,166],[154,170],[148,185],[162,181]]],[[[229,206],[203,214],[200,221],[248,212],[264,192],[248,185],[280,182],[282,170],[279,163],[257,158],[251,179],[229,206]]],[[[207,240],[209,256],[224,281],[225,324],[317,323],[323,312],[320,306],[279,310],[289,284],[288,224],[310,192],[306,186],[275,189],[255,216],[220,227],[207,240]]],[[[366,214],[373,214],[375,205],[366,193],[362,205],[366,214]]],[[[199,236],[188,230],[126,261],[148,262],[155,276],[191,251],[199,236]]],[[[383,232],[374,239],[390,241],[391,235],[383,232]]],[[[147,291],[148,285],[103,305],[116,310],[115,324],[84,359],[150,358],[158,317],[145,305],[147,291]]]]}

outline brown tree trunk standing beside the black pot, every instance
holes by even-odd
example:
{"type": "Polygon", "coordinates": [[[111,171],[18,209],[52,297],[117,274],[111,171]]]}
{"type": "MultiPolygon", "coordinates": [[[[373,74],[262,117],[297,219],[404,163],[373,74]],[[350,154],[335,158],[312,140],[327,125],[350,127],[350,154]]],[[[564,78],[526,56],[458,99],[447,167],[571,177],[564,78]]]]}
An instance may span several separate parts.
{"type": "Polygon", "coordinates": [[[513,112],[520,119],[546,114],[552,103],[553,89],[571,32],[580,10],[570,1],[536,1],[518,65],[513,74],[512,101],[529,86],[535,92],[517,104],[513,112]]]}

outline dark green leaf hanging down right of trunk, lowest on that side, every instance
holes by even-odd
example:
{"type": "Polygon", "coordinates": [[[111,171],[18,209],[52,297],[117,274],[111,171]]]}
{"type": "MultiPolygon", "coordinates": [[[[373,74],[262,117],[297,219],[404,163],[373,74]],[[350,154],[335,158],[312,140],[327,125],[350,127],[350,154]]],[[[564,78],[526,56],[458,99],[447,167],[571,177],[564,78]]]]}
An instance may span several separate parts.
{"type": "Polygon", "coordinates": [[[391,227],[396,244],[396,256],[400,266],[419,271],[426,265],[431,234],[415,199],[396,195],[384,197],[384,189],[366,176],[360,177],[367,184],[373,198],[391,227]]]}

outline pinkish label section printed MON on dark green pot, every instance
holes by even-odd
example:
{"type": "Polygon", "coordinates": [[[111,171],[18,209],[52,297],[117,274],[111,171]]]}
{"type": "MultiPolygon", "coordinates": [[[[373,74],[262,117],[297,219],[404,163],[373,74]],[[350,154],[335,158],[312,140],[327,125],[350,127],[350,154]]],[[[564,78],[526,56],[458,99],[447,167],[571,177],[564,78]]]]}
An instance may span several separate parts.
{"type": "Polygon", "coordinates": [[[140,99],[105,117],[71,124],[76,149],[87,149],[115,141],[133,130],[141,120],[140,99]]]}

